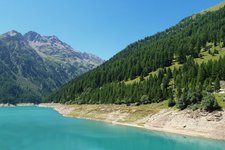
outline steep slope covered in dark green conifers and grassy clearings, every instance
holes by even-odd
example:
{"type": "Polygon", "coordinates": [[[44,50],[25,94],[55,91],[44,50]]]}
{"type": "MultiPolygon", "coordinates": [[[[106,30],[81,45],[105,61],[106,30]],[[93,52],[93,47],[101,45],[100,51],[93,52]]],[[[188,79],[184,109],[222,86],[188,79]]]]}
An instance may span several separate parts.
{"type": "Polygon", "coordinates": [[[224,3],[127,46],[96,69],[65,84],[47,101],[154,103],[219,108],[211,94],[225,80],[224,3]]]}

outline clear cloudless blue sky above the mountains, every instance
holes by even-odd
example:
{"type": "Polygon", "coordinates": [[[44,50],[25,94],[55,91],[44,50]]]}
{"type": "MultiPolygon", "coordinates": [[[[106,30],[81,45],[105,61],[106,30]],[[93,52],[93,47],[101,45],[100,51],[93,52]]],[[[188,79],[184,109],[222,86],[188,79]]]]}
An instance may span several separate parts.
{"type": "Polygon", "coordinates": [[[0,33],[56,35],[109,59],[128,44],[223,0],[0,0],[0,33]]]}

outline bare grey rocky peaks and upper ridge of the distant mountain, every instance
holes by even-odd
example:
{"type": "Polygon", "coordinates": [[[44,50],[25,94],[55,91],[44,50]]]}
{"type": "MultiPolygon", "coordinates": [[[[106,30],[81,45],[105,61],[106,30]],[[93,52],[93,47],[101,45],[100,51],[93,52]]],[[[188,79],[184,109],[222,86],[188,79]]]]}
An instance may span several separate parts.
{"type": "MultiPolygon", "coordinates": [[[[37,32],[29,31],[22,35],[12,30],[2,35],[5,41],[19,42],[33,48],[43,59],[51,58],[57,62],[70,64],[85,64],[85,66],[98,66],[104,61],[89,53],[74,50],[69,44],[61,41],[57,36],[43,36],[37,32]]],[[[88,69],[87,69],[88,70],[88,69]]]]}

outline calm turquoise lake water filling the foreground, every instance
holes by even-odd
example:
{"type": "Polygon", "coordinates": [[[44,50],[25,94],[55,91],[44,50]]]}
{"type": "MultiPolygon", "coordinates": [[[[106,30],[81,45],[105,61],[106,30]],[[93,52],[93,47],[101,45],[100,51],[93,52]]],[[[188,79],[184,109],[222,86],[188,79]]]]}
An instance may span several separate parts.
{"type": "Polygon", "coordinates": [[[38,107],[0,108],[0,150],[225,150],[225,141],[65,118],[38,107]]]}

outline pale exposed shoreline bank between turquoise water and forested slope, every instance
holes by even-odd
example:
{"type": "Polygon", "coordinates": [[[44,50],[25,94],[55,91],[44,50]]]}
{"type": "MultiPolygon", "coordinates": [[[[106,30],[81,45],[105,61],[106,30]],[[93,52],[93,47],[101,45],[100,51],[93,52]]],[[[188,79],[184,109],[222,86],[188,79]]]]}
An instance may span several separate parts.
{"type": "Polygon", "coordinates": [[[145,128],[180,135],[225,140],[225,112],[200,110],[151,110],[115,105],[62,105],[40,104],[63,116],[104,121],[117,125],[145,128]]]}

